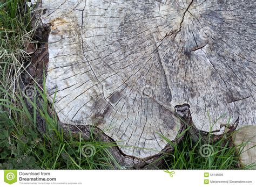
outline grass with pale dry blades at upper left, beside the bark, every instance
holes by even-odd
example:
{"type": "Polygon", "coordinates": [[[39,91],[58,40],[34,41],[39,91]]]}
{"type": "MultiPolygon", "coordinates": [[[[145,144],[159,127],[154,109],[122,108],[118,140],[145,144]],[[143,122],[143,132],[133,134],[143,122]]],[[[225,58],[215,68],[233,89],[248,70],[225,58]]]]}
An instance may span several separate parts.
{"type": "MultiPolygon", "coordinates": [[[[17,81],[24,71],[30,56],[25,48],[31,42],[35,28],[31,28],[31,11],[24,0],[4,0],[0,2],[0,78],[1,88],[12,96],[17,89],[17,81]]],[[[11,99],[1,93],[1,97],[11,99]]]]}

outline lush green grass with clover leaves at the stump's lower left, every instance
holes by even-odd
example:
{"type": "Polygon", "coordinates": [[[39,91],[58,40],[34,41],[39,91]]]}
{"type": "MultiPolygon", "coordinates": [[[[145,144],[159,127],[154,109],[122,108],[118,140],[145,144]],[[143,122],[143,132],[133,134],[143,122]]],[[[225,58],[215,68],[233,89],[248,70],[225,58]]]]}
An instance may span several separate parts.
{"type": "Polygon", "coordinates": [[[50,103],[45,90],[38,89],[38,92],[43,98],[40,106],[35,102],[37,96],[24,100],[22,94],[16,95],[13,99],[19,106],[0,99],[1,104],[13,111],[11,118],[1,112],[0,130],[4,133],[0,136],[0,169],[120,168],[108,149],[116,146],[114,143],[96,141],[92,135],[90,141],[86,141],[81,135],[75,138],[64,134],[57,117],[48,113],[50,103]],[[27,102],[34,108],[32,113],[27,102]],[[38,131],[38,113],[45,121],[45,132],[38,131]]]}

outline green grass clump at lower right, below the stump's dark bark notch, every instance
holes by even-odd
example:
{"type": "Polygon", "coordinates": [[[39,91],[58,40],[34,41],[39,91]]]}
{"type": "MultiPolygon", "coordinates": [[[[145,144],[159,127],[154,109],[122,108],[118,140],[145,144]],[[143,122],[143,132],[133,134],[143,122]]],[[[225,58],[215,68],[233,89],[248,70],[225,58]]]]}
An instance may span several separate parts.
{"type": "MultiPolygon", "coordinates": [[[[188,129],[187,129],[188,130],[188,129]]],[[[172,156],[165,159],[165,167],[169,169],[250,169],[254,165],[241,167],[239,156],[246,149],[245,143],[235,147],[232,143],[233,133],[225,133],[218,141],[212,142],[212,135],[208,135],[208,142],[203,136],[193,141],[190,133],[186,132],[179,145],[173,144],[172,156]]]]}

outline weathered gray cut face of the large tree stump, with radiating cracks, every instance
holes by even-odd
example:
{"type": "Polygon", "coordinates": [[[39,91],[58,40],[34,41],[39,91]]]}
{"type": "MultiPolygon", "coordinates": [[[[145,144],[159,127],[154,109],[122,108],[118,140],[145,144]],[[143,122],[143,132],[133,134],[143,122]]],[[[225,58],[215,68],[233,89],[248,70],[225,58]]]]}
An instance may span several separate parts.
{"type": "Polygon", "coordinates": [[[43,0],[60,121],[96,125],[138,158],[176,138],[184,103],[198,130],[254,125],[255,4],[43,0]]]}

